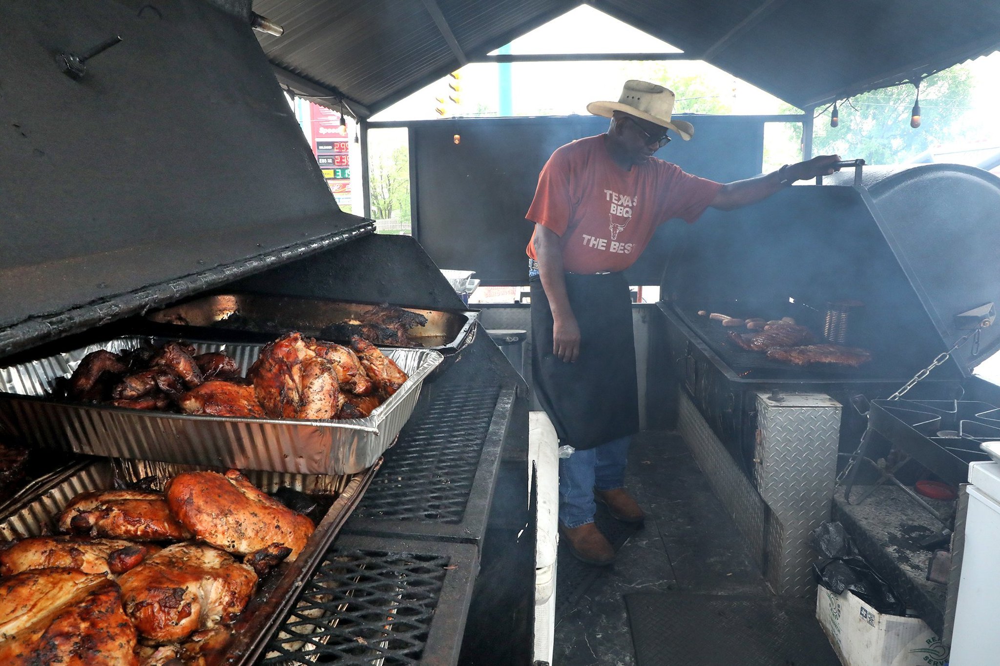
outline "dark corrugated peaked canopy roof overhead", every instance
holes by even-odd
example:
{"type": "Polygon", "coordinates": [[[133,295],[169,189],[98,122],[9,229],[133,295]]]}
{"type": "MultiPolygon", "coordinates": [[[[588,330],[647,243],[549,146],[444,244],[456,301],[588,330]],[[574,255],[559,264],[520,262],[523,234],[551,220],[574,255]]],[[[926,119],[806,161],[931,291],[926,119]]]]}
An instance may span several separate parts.
{"type": "MultiPolygon", "coordinates": [[[[296,93],[365,117],[579,0],[255,0],[296,93]]],[[[585,3],[799,108],[931,74],[1000,48],[1000,2],[590,0],[585,3]]]]}

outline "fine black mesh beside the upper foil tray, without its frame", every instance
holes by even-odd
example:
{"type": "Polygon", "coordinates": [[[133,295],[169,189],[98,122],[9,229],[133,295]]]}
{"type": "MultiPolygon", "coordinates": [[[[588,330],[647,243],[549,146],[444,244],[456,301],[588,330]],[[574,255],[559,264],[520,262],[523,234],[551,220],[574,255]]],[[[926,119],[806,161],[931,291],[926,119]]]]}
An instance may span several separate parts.
{"type": "Polygon", "coordinates": [[[443,386],[386,451],[353,518],[462,522],[500,390],[443,386]]]}

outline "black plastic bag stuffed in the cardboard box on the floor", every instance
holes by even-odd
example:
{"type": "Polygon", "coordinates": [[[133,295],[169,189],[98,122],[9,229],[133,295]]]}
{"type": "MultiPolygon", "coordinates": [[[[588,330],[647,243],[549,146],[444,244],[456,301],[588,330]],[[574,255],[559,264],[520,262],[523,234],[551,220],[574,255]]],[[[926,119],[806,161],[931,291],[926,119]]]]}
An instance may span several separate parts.
{"type": "Polygon", "coordinates": [[[816,582],[841,594],[849,590],[880,613],[905,615],[906,606],[892,587],[858,555],[839,522],[824,522],[813,530],[812,545],[827,561],[813,564],[816,582]]]}

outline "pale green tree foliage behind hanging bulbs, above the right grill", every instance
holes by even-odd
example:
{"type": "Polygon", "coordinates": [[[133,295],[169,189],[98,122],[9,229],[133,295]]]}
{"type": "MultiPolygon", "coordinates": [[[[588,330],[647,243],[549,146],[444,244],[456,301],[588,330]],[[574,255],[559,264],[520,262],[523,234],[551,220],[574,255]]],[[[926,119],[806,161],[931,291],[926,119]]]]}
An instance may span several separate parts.
{"type": "Polygon", "coordinates": [[[863,158],[868,164],[900,164],[920,153],[965,139],[958,121],[972,92],[969,68],[958,65],[920,85],[921,125],[910,127],[916,90],[910,84],[857,95],[838,105],[840,124],[830,127],[831,110],[816,119],[813,154],[863,158]]]}

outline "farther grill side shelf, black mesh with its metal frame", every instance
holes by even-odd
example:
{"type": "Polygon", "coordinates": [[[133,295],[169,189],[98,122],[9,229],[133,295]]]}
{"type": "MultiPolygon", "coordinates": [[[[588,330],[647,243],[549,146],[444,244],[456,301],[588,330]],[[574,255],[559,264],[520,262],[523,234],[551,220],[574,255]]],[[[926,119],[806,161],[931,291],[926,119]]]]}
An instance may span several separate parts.
{"type": "Polygon", "coordinates": [[[442,385],[415,413],[345,533],[478,543],[516,386],[442,385]]]}

